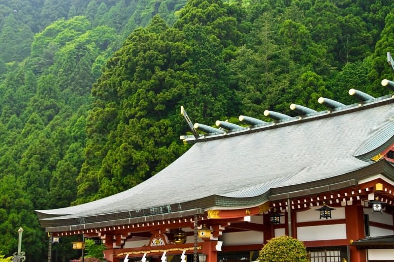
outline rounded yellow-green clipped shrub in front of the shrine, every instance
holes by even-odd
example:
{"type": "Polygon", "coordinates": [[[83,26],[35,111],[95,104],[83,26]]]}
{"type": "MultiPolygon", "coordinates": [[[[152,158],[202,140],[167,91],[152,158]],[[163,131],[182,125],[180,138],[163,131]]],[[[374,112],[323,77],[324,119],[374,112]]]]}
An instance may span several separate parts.
{"type": "Polygon", "coordinates": [[[283,235],[271,238],[263,246],[260,262],[307,262],[304,244],[296,238],[283,235]]]}

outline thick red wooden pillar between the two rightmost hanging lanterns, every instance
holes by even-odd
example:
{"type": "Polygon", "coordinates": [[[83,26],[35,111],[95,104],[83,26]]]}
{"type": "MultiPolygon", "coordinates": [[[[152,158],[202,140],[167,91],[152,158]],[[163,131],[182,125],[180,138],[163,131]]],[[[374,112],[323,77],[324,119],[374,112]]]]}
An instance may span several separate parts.
{"type": "MultiPolygon", "coordinates": [[[[347,205],[346,215],[346,237],[347,240],[359,240],[365,237],[364,233],[364,213],[360,205],[347,205]]],[[[365,250],[358,250],[355,246],[349,246],[350,262],[366,262],[365,250]]]]}

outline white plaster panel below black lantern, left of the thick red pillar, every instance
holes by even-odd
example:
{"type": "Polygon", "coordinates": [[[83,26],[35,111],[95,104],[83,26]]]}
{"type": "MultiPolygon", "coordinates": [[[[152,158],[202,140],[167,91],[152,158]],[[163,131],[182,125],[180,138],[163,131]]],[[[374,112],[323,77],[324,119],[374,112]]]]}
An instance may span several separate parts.
{"type": "Polygon", "coordinates": [[[298,227],[297,238],[301,241],[345,239],[346,224],[298,227]]]}

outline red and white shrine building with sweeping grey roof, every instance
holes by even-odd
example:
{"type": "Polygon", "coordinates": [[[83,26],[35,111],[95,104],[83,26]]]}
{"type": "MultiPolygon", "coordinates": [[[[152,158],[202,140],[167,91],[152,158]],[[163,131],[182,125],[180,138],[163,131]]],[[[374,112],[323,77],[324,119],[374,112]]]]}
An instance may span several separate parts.
{"type": "MultiPolygon", "coordinates": [[[[394,83],[383,80],[393,88],[394,83]]],[[[191,148],[137,186],[36,210],[53,237],[99,238],[109,262],[252,262],[275,236],[311,262],[394,261],[394,96],[351,89],[355,104],[265,111],[218,128],[193,123],[191,148]]]]}

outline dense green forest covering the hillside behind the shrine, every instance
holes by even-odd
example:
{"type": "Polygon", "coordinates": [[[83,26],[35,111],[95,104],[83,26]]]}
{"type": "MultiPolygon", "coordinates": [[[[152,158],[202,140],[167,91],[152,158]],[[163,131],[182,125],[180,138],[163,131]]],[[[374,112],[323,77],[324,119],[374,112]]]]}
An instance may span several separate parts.
{"type": "MultiPolygon", "coordinates": [[[[0,255],[46,261],[34,209],[155,175],[196,122],[388,94],[392,0],[0,0],[0,255]]],[[[76,254],[71,238],[53,246],[76,254]]]]}

